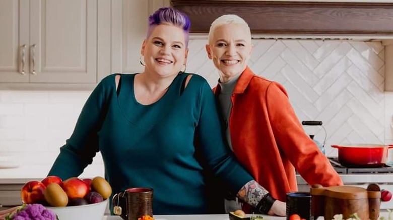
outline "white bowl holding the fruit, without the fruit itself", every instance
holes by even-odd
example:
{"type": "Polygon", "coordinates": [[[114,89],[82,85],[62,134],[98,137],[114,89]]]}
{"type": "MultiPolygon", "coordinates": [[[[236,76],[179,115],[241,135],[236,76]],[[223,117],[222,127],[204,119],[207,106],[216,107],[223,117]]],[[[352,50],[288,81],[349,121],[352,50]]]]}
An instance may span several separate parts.
{"type": "Polygon", "coordinates": [[[49,207],[46,209],[54,211],[59,220],[75,220],[75,219],[94,219],[101,220],[104,216],[108,200],[105,199],[102,202],[89,204],[89,205],[78,205],[78,206],[67,206],[67,207],[49,207]]]}

